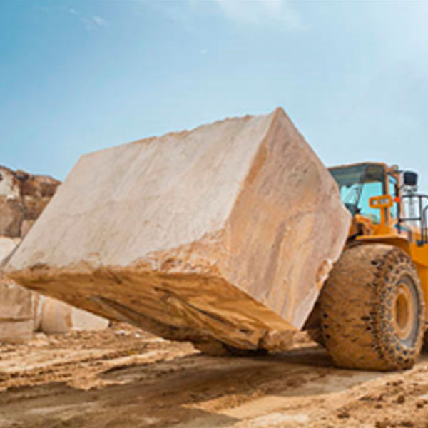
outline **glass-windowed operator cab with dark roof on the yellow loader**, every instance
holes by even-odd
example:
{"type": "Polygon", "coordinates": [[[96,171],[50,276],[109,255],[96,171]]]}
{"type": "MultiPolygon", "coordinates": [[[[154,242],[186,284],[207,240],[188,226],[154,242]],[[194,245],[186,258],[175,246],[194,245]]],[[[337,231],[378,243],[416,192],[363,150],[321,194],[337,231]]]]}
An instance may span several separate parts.
{"type": "MultiPolygon", "coordinates": [[[[373,208],[370,198],[378,195],[391,195],[394,198],[398,191],[397,178],[387,175],[382,163],[360,163],[330,168],[330,173],[339,186],[340,198],[352,217],[359,214],[372,220],[374,224],[381,222],[382,213],[373,208]]],[[[384,208],[385,218],[397,217],[397,206],[390,212],[384,208]]]]}

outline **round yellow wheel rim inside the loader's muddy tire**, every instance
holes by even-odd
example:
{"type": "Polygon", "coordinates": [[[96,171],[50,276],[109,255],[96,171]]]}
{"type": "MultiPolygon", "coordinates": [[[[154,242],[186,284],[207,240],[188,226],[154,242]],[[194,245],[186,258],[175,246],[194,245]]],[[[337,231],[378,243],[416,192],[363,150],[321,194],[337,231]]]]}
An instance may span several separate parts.
{"type": "Polygon", "coordinates": [[[392,305],[392,322],[398,339],[404,345],[413,345],[416,339],[417,295],[414,282],[409,275],[400,278],[392,305]]]}

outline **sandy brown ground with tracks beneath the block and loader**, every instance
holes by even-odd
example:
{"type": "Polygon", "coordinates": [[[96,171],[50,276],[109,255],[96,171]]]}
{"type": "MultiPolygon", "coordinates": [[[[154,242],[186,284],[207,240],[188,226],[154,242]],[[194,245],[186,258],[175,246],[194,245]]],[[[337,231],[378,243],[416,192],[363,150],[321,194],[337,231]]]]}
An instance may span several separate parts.
{"type": "Polygon", "coordinates": [[[428,358],[337,370],[305,337],[265,357],[207,357],[128,325],[0,345],[0,427],[428,428],[428,358]]]}

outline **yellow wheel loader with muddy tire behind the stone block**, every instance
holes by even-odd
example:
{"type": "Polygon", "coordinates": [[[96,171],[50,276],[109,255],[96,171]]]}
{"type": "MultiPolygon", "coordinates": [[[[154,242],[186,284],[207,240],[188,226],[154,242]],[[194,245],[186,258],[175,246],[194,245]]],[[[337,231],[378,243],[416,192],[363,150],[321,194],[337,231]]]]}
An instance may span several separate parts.
{"type": "Polygon", "coordinates": [[[315,339],[341,367],[412,367],[428,307],[428,196],[416,193],[416,173],[384,163],[330,173],[352,225],[310,320],[315,339]]]}

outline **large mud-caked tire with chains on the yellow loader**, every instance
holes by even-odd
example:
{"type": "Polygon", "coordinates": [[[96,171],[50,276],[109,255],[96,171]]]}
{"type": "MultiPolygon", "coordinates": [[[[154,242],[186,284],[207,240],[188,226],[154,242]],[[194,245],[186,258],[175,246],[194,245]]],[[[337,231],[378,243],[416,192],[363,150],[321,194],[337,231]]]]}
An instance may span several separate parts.
{"type": "Polygon", "coordinates": [[[424,296],[412,260],[390,245],[345,250],[320,295],[325,347],[339,367],[409,369],[424,337],[424,296]]]}

